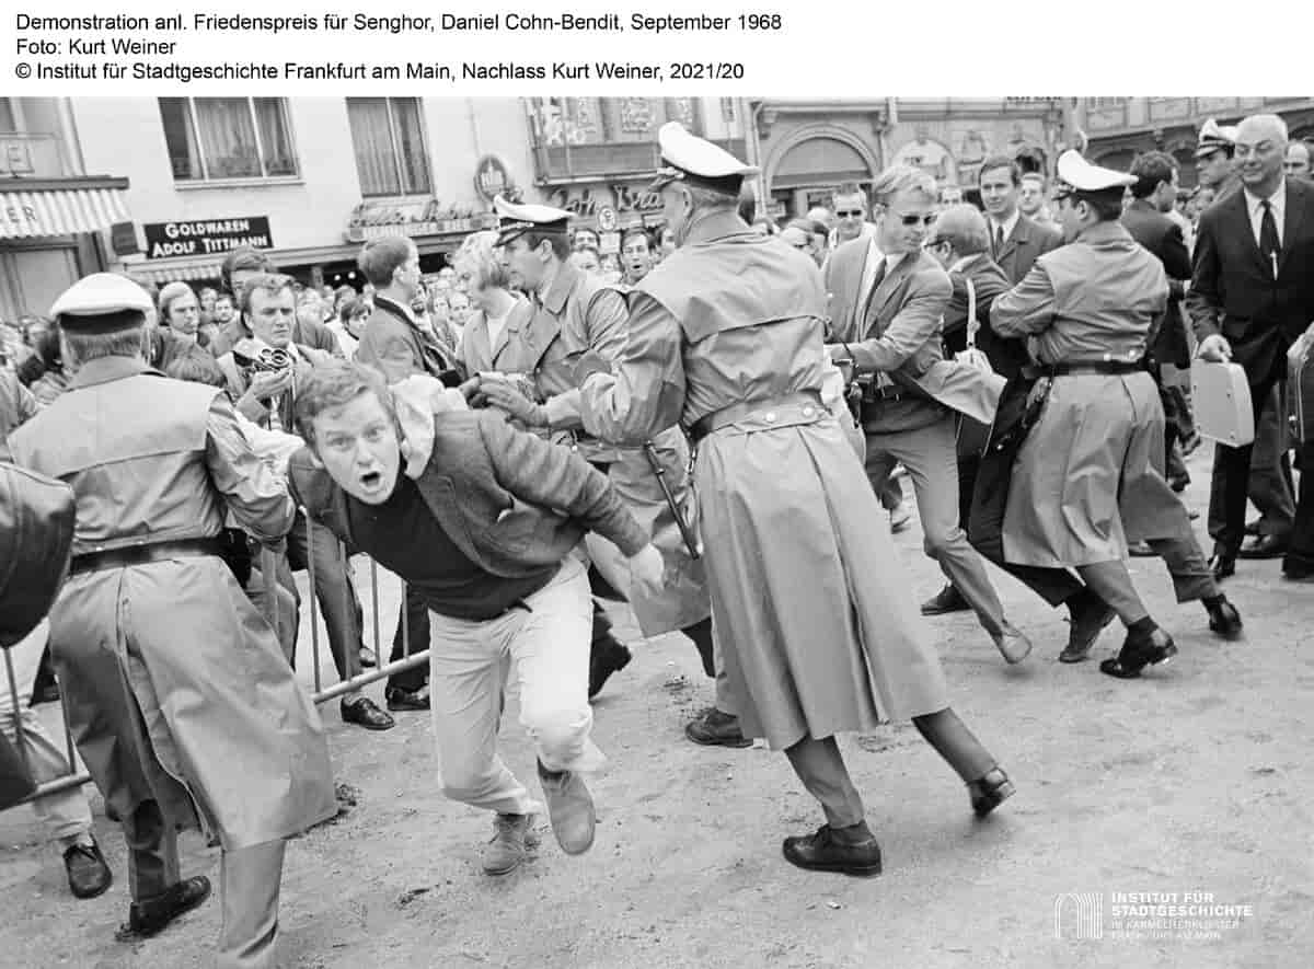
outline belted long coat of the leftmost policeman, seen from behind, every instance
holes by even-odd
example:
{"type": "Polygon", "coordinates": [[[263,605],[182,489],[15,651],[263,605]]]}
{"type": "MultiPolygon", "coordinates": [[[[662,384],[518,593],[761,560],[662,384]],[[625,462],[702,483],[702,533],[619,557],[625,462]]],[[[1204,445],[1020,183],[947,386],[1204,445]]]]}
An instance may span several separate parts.
{"type": "MultiPolygon", "coordinates": [[[[215,387],[125,357],[88,361],[11,439],[72,486],[74,555],[213,537],[231,509],[261,540],[292,524],[286,487],[215,387]]],[[[235,850],[336,813],[319,714],[264,618],[215,557],[74,575],[50,614],[64,709],[110,818],[159,802],[173,827],[235,850]]]]}

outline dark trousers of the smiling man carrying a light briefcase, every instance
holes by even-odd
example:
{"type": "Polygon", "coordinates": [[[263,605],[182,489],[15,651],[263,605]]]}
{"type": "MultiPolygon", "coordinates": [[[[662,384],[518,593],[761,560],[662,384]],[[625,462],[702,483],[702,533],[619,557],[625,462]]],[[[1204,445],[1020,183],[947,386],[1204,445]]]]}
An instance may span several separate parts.
{"type": "MultiPolygon", "coordinates": [[[[1296,523],[1296,488],[1292,479],[1292,460],[1288,456],[1288,435],[1285,429],[1285,410],[1281,394],[1273,387],[1265,398],[1260,398],[1263,410],[1255,418],[1255,444],[1251,446],[1250,477],[1246,491],[1259,509],[1259,533],[1288,538],[1296,523]]],[[[1226,521],[1226,498],[1223,465],[1235,456],[1227,452],[1236,448],[1214,448],[1214,470],[1209,486],[1209,537],[1229,548],[1230,533],[1226,521]]],[[[1236,540],[1240,545],[1240,540],[1236,540]]]]}

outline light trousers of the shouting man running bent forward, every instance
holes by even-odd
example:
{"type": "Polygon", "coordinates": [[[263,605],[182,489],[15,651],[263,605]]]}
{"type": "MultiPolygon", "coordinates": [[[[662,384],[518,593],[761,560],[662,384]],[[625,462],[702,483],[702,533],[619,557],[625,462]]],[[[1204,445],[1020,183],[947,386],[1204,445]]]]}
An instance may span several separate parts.
{"type": "Polygon", "coordinates": [[[520,725],[548,771],[606,763],[589,734],[593,599],[569,555],[524,604],[485,621],[430,613],[430,705],[443,793],[499,814],[531,814],[530,797],[497,752],[505,693],[518,691],[520,725]]]}

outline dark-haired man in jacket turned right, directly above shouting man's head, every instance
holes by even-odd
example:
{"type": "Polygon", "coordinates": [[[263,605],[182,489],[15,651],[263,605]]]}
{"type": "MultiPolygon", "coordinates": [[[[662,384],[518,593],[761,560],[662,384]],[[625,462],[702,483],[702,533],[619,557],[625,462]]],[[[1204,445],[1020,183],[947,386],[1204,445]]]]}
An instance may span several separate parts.
{"type": "MultiPolygon", "coordinates": [[[[388,383],[413,374],[439,377],[457,373],[453,356],[432,334],[420,328],[411,311],[411,301],[420,293],[419,249],[415,243],[399,235],[374,239],[361,249],[356,265],[374,288],[374,311],[365,320],[356,360],[374,368],[388,383]]],[[[402,659],[407,647],[410,653],[420,653],[430,645],[428,608],[419,591],[407,586],[388,662],[402,659]]],[[[427,681],[428,671],[423,666],[389,676],[384,687],[388,709],[427,710],[427,681]]]]}

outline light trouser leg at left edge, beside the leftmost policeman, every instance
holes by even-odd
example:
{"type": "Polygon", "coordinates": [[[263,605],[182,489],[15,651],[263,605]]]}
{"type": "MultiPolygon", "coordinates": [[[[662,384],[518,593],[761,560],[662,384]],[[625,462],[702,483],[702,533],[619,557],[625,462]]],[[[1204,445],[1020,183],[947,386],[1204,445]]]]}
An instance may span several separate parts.
{"type": "MultiPolygon", "coordinates": [[[[4,730],[5,737],[13,743],[20,756],[26,754],[28,769],[37,784],[58,780],[70,773],[68,758],[63,748],[46,733],[37,712],[28,705],[49,637],[50,622],[42,620],[34,630],[8,650],[9,663],[13,664],[17,696],[9,692],[8,675],[0,680],[0,729],[4,730]],[[18,734],[22,734],[21,744],[18,734]]],[[[87,796],[81,788],[37,797],[32,801],[32,809],[35,811],[46,838],[54,842],[60,851],[91,835],[91,808],[87,805],[87,796]]]]}

